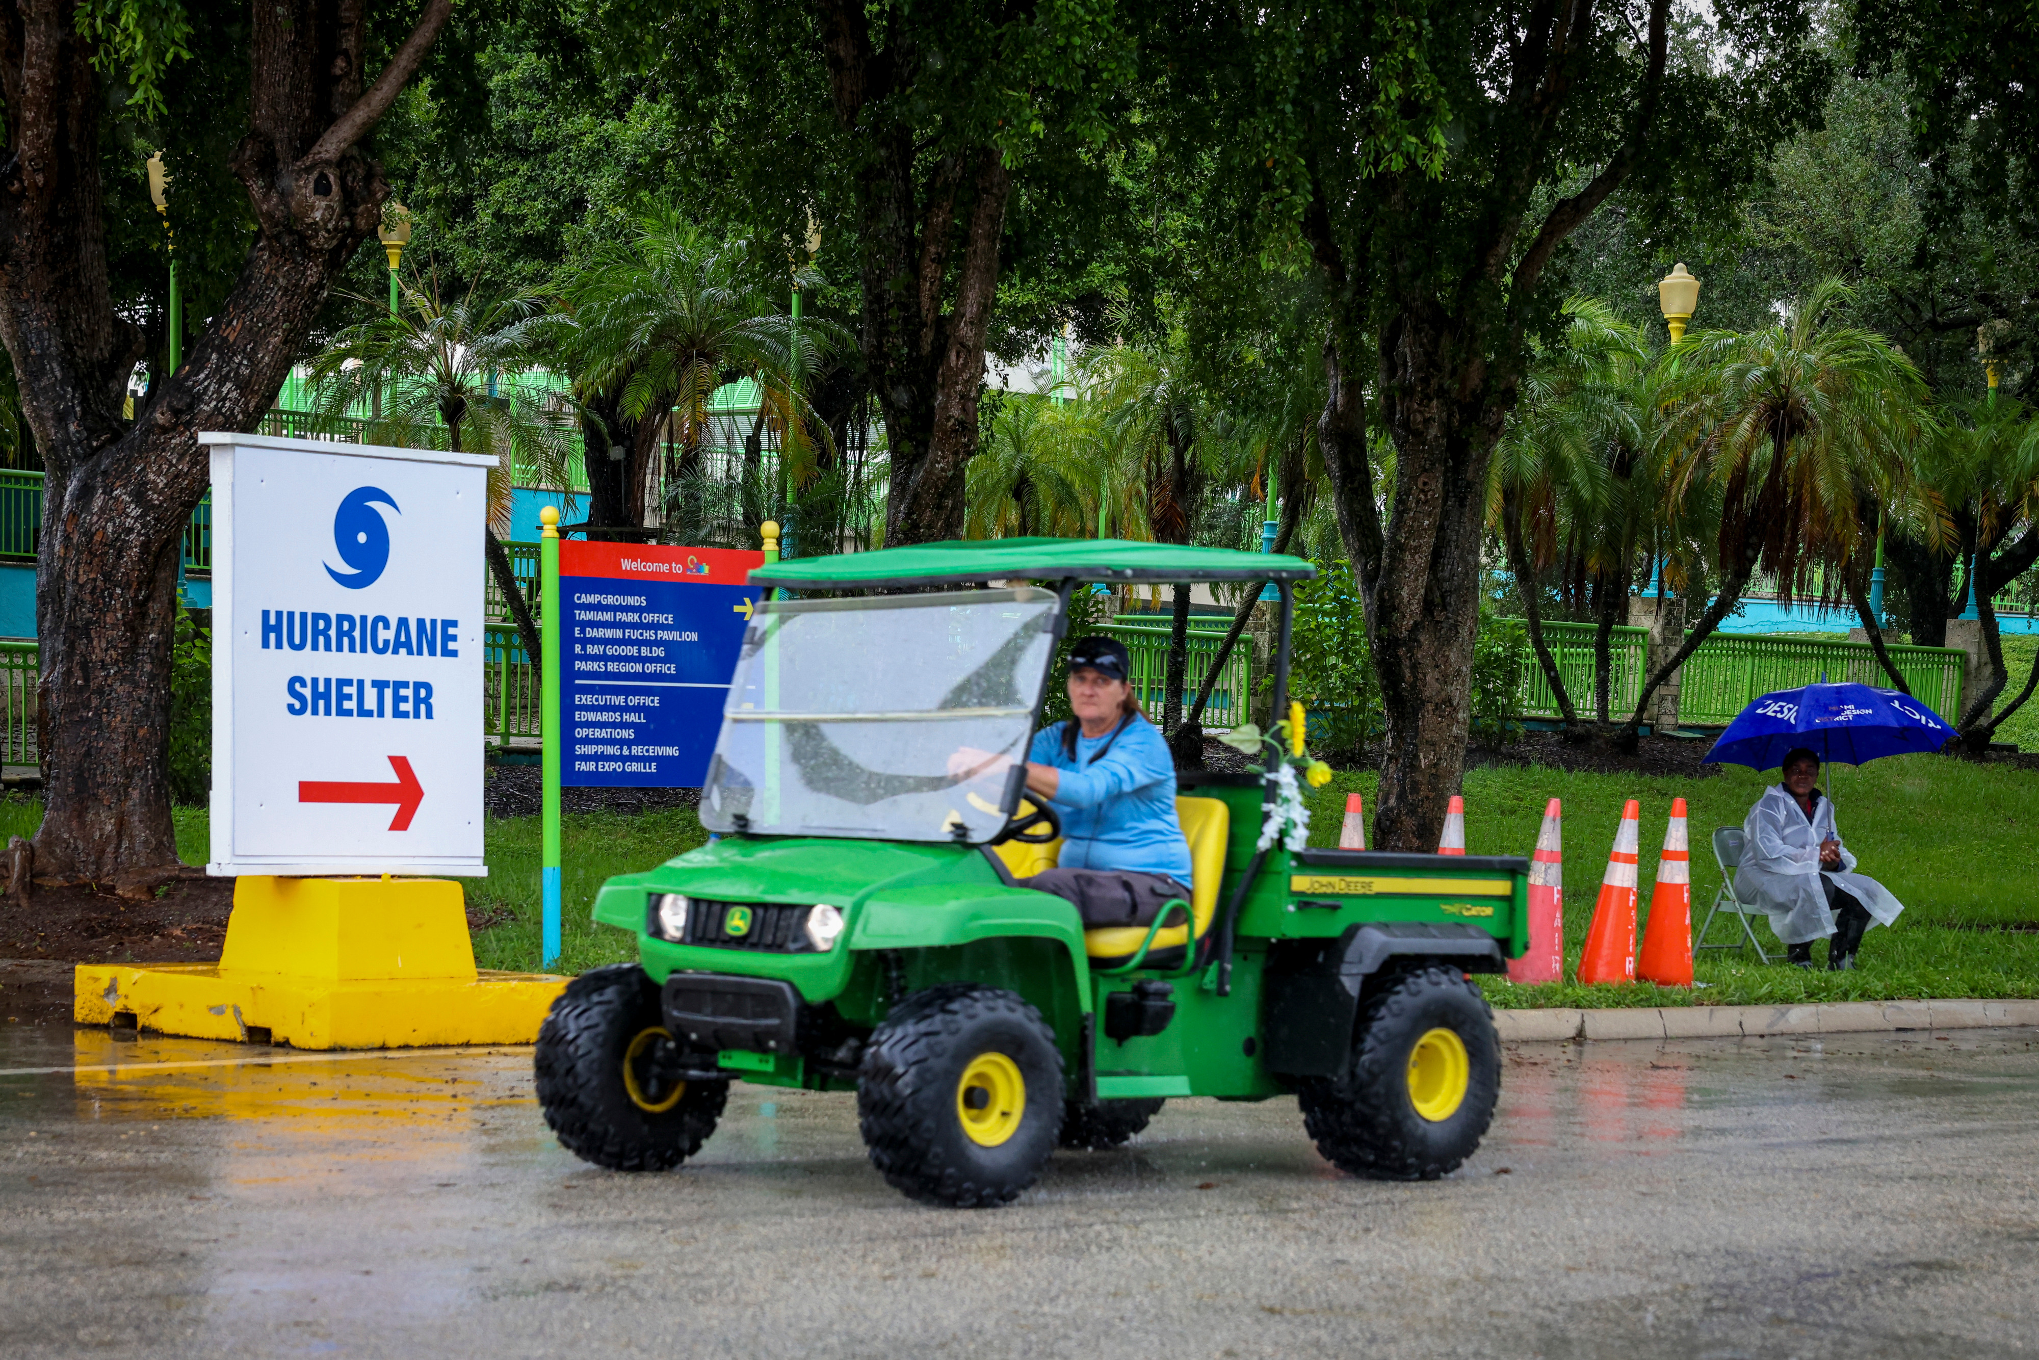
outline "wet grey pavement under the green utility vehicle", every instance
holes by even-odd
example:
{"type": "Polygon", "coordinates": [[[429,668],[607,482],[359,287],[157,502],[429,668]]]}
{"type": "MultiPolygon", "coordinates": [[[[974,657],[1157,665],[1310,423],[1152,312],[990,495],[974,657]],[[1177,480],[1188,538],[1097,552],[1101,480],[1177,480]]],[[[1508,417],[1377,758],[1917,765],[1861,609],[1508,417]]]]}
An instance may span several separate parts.
{"type": "Polygon", "coordinates": [[[856,1103],[736,1087],[661,1176],[573,1160],[526,1050],[0,1026],[0,1354],[2012,1356],[2039,1036],[1521,1046],[1456,1176],[1174,1101],[997,1211],[856,1103]],[[53,1068],[53,1070],[31,1070],[53,1068]]]}

